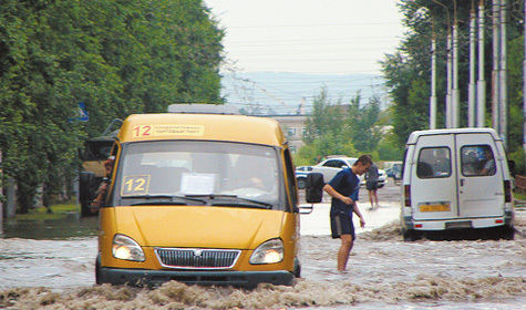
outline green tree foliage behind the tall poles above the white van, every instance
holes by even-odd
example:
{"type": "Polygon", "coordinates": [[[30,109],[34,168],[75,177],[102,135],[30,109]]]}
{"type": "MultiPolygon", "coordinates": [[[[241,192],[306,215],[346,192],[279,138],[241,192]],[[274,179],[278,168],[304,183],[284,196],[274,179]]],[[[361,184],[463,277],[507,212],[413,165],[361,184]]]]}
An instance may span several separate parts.
{"type": "MultiPolygon", "coordinates": [[[[403,22],[408,28],[404,39],[398,51],[385,55],[382,70],[386,85],[391,90],[394,103],[393,126],[400,146],[406,141],[409,134],[416,130],[429,128],[429,97],[431,85],[431,39],[436,38],[437,56],[437,99],[439,114],[437,127],[444,126],[445,94],[446,94],[446,37],[455,20],[460,33],[458,81],[461,90],[461,126],[467,125],[467,83],[468,83],[468,55],[470,55],[470,11],[472,2],[478,6],[479,1],[433,1],[433,0],[401,0],[400,10],[404,16],[403,22]],[[454,4],[456,3],[456,9],[454,4]]],[[[491,126],[492,113],[492,52],[493,32],[492,3],[483,1],[486,10],[486,37],[484,52],[486,86],[486,125],[491,126]]],[[[476,8],[476,7],[475,7],[476,8]]],[[[523,117],[522,113],[522,60],[524,53],[524,2],[509,1],[507,6],[507,59],[508,59],[508,105],[509,140],[508,152],[514,153],[522,147],[523,117]]],[[[519,166],[522,165],[520,159],[519,166]]]]}

